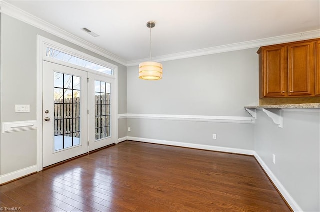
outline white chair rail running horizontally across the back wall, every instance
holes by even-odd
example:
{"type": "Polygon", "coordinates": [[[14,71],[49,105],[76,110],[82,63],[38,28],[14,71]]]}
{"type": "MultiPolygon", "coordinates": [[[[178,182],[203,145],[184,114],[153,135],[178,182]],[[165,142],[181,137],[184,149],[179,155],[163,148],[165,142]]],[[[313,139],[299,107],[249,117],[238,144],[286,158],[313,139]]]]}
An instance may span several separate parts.
{"type": "Polygon", "coordinates": [[[209,115],[166,115],[166,114],[118,114],[118,119],[154,119],[154,120],[179,120],[198,122],[220,122],[220,123],[255,123],[253,117],[243,116],[209,116],[209,115]]]}

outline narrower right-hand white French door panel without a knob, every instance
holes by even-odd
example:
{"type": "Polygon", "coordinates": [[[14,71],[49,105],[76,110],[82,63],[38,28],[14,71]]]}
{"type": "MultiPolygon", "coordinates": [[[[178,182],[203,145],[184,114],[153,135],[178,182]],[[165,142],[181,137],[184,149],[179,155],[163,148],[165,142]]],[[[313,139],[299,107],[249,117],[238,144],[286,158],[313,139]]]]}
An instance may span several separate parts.
{"type": "Polygon", "coordinates": [[[89,150],[115,143],[114,79],[88,73],[89,150]]]}

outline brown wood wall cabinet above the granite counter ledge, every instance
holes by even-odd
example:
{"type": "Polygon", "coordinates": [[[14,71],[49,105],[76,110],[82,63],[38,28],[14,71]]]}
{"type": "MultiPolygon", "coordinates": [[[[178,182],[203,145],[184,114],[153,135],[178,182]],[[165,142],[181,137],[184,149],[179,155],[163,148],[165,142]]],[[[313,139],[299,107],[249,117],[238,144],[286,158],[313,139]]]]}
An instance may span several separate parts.
{"type": "Polygon", "coordinates": [[[320,95],[319,43],[312,39],[259,48],[259,97],[320,95]]]}

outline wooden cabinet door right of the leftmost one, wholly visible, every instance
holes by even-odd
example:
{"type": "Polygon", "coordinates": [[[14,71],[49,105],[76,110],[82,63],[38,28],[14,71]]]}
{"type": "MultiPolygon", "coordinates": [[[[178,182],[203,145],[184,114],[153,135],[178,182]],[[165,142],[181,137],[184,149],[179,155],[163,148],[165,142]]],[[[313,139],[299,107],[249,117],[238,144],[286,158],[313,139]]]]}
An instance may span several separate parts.
{"type": "Polygon", "coordinates": [[[314,42],[288,46],[289,96],[307,96],[314,93],[314,42]]]}

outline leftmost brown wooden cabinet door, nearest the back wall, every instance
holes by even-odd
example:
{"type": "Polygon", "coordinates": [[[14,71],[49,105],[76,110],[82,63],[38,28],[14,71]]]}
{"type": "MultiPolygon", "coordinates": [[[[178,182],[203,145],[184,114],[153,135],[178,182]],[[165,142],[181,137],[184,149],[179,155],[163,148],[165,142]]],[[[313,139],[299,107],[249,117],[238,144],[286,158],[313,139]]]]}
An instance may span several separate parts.
{"type": "Polygon", "coordinates": [[[263,48],[260,52],[260,97],[287,96],[285,46],[263,48]],[[262,61],[261,61],[262,60],[262,61]],[[261,92],[262,91],[262,92],[261,92]]]}

